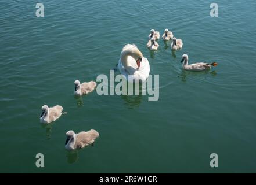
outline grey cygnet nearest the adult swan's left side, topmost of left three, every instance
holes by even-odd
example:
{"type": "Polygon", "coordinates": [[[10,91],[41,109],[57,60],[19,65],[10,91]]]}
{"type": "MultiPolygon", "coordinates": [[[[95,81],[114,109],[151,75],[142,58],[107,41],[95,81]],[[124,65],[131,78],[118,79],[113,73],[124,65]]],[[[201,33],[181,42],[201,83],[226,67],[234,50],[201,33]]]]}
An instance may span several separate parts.
{"type": "Polygon", "coordinates": [[[95,89],[96,85],[97,83],[94,81],[84,82],[81,84],[79,80],[75,80],[74,95],[81,96],[84,94],[88,94],[95,89]]]}

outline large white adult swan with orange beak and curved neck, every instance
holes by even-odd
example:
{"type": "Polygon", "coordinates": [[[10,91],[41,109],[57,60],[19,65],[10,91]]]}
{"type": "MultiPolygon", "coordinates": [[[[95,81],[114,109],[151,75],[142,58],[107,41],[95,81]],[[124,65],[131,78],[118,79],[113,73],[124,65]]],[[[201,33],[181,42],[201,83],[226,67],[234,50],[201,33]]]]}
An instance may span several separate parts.
{"type": "Polygon", "coordinates": [[[122,49],[118,69],[125,79],[132,83],[134,80],[146,81],[149,77],[150,65],[138,47],[127,44],[122,49]]]}

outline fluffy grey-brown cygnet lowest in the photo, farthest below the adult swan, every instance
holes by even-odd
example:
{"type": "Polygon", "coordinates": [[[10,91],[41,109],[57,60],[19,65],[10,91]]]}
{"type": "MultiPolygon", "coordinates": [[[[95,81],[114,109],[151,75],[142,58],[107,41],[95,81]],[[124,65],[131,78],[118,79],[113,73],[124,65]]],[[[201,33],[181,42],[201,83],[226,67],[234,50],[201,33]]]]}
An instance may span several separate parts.
{"type": "Polygon", "coordinates": [[[74,150],[91,145],[93,142],[95,142],[95,139],[99,137],[99,133],[94,129],[87,132],[82,131],[78,134],[75,134],[74,131],[68,131],[66,136],[67,140],[65,143],[65,148],[67,150],[74,150]]]}

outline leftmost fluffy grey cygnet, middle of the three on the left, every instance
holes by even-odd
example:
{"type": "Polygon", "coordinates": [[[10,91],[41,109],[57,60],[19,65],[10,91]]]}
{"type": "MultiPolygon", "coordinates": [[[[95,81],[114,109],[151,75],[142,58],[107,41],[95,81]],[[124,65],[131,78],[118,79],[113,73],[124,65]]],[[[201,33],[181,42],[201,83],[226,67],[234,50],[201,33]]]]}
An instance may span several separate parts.
{"type": "Polygon", "coordinates": [[[42,106],[42,113],[40,116],[41,123],[51,123],[62,116],[62,106],[56,105],[49,108],[47,105],[42,106]]]}

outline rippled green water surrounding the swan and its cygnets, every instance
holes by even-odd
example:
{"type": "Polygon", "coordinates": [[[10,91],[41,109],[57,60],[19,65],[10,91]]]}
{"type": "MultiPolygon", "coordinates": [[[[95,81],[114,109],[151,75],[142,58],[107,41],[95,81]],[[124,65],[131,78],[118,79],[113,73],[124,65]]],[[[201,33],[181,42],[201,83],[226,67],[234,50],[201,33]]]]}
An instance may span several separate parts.
{"type": "Polygon", "coordinates": [[[256,172],[256,2],[38,1],[0,3],[0,172],[256,172]],[[170,29],[183,49],[162,40],[146,47],[150,29],[170,29]],[[122,47],[135,43],[160,75],[160,97],[103,95],[75,99],[74,80],[109,74],[122,47]],[[216,61],[208,72],[182,70],[216,61]],[[62,105],[55,123],[39,123],[42,105],[62,105]],[[94,147],[68,152],[66,132],[96,129],[94,147]],[[44,154],[45,167],[35,166],[44,154]],[[218,168],[210,168],[217,153],[218,168]]]}

